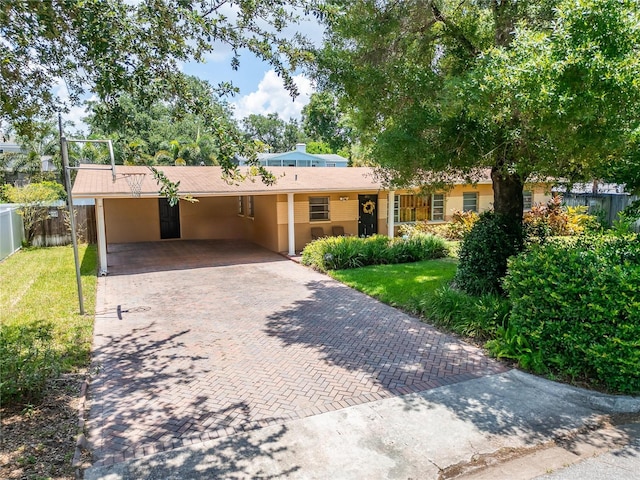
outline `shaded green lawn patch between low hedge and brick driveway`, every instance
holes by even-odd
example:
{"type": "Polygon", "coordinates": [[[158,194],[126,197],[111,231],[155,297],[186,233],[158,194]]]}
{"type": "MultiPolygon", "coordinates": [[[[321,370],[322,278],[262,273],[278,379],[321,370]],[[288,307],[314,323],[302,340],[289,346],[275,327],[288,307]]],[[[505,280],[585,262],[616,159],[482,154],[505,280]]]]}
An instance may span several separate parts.
{"type": "Polygon", "coordinates": [[[381,302],[415,312],[421,298],[453,279],[456,267],[455,259],[444,258],[333,270],[329,275],[381,302]]]}

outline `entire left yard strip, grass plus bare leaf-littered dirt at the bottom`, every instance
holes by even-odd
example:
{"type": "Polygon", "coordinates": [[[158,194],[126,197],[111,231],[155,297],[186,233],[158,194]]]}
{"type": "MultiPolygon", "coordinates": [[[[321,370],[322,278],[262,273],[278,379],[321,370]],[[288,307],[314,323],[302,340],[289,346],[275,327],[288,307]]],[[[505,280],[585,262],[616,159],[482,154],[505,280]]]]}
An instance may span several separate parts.
{"type": "Polygon", "coordinates": [[[80,258],[85,316],[71,247],[24,249],[0,263],[0,478],[75,478],[79,392],[95,311],[95,246],[81,246],[80,258]]]}

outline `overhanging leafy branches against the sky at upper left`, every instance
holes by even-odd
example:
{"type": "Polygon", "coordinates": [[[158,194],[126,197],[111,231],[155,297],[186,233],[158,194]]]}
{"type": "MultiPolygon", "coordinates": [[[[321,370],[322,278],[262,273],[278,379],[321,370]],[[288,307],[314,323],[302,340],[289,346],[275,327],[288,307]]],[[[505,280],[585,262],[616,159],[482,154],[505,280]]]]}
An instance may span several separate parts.
{"type": "MultiPolygon", "coordinates": [[[[142,107],[174,97],[197,110],[199,98],[187,88],[181,64],[203,61],[221,45],[233,52],[233,68],[240,66],[239,52],[249,51],[297,94],[292,72],[309,54],[297,44],[299,37],[292,39],[283,30],[298,20],[298,7],[308,10],[308,3],[289,0],[290,8],[284,8],[280,1],[236,2],[232,15],[221,8],[224,3],[3,2],[3,127],[8,121],[19,133],[28,133],[34,119],[78,105],[87,91],[114,114],[122,94],[142,107]],[[60,83],[66,89],[57,88],[60,83]]],[[[218,95],[236,91],[228,82],[216,87],[218,95]]]]}

